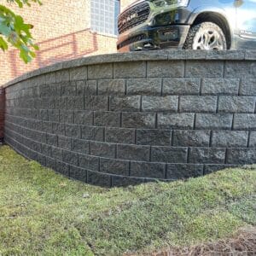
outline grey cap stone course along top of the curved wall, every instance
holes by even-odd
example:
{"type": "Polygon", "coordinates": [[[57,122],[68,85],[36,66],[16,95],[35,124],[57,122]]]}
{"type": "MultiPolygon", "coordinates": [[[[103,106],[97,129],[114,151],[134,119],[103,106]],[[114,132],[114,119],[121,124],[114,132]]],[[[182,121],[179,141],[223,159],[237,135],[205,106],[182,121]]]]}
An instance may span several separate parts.
{"type": "MultiPolygon", "coordinates": [[[[128,53],[114,53],[107,55],[93,55],[71,61],[58,62],[47,67],[41,67],[3,84],[2,87],[19,83],[44,73],[52,73],[72,67],[82,67],[104,63],[127,61],[174,61],[174,60],[228,60],[228,61],[256,61],[256,50],[190,50],[190,49],[162,49],[154,51],[140,51],[128,53]]],[[[1,87],[1,85],[0,85],[1,87]]]]}

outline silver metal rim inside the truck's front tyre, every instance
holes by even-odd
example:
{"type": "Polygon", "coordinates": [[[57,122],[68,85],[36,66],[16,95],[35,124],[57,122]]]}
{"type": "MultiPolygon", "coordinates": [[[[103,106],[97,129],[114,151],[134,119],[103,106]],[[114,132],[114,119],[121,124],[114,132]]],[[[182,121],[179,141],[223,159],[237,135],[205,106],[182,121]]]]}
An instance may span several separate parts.
{"type": "Polygon", "coordinates": [[[224,38],[216,30],[202,30],[195,36],[193,49],[224,49],[224,38]]]}

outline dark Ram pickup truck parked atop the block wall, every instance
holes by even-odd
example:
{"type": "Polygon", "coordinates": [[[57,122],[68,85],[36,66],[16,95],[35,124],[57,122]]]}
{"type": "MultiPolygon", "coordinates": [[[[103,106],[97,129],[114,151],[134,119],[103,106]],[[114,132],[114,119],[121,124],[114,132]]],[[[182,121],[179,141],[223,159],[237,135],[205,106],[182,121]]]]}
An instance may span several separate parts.
{"type": "Polygon", "coordinates": [[[118,30],[119,52],[256,49],[256,0],[138,0],[118,30]]]}

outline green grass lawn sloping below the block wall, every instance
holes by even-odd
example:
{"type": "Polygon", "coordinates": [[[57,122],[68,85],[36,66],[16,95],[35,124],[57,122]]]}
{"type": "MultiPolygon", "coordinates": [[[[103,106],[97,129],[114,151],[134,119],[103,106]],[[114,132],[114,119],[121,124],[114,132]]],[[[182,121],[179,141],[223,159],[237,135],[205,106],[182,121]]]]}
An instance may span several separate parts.
{"type": "Polygon", "coordinates": [[[121,255],[256,225],[256,166],[102,189],[0,147],[0,255],[121,255]]]}

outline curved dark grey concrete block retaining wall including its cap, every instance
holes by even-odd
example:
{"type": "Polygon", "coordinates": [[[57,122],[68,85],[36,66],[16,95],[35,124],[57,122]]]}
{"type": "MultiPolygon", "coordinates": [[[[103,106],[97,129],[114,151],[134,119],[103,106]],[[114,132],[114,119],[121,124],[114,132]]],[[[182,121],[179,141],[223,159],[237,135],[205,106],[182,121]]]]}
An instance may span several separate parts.
{"type": "Polygon", "coordinates": [[[5,142],[106,186],[195,177],[256,162],[256,54],[100,55],[6,85],[5,142]]]}

